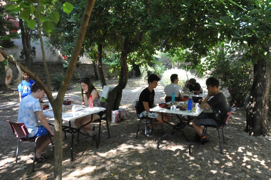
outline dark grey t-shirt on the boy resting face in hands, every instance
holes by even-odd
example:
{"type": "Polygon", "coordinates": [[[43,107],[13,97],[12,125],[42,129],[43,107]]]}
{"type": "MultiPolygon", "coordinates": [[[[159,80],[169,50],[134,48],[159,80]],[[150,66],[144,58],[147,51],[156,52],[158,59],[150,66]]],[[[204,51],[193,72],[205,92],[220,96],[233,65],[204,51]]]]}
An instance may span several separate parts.
{"type": "Polygon", "coordinates": [[[215,120],[217,120],[219,124],[223,124],[226,114],[230,112],[230,105],[224,94],[222,94],[222,92],[216,94],[207,104],[213,108],[215,120]]]}

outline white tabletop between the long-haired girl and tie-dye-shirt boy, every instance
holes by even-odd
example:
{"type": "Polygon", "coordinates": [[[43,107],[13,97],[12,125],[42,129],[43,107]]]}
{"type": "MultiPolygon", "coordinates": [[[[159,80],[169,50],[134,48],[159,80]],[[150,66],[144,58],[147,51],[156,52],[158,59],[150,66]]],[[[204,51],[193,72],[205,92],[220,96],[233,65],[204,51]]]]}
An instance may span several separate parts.
{"type": "MultiPolygon", "coordinates": [[[[73,105],[73,104],[71,104],[71,105],[73,105]]],[[[62,107],[65,107],[65,106],[63,105],[62,107]]],[[[48,116],[48,117],[54,117],[54,112],[49,111],[49,110],[50,109],[43,110],[43,115],[48,116]]],[[[75,120],[76,118],[87,116],[87,115],[94,114],[94,113],[98,113],[98,112],[104,111],[104,110],[106,110],[106,109],[102,108],[102,107],[93,107],[93,108],[85,107],[81,111],[76,111],[76,112],[70,111],[67,113],[62,113],[62,120],[71,121],[71,120],[75,120]]]]}

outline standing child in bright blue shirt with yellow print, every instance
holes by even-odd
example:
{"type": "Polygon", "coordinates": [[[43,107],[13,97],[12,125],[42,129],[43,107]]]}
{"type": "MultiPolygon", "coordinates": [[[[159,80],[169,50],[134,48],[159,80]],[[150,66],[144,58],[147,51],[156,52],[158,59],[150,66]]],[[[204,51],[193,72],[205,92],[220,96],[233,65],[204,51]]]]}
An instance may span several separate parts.
{"type": "Polygon", "coordinates": [[[22,75],[23,75],[23,80],[17,88],[17,91],[19,92],[20,102],[21,102],[22,98],[31,94],[30,88],[31,88],[32,84],[34,83],[34,81],[32,79],[30,79],[30,77],[27,73],[23,73],[22,75]]]}

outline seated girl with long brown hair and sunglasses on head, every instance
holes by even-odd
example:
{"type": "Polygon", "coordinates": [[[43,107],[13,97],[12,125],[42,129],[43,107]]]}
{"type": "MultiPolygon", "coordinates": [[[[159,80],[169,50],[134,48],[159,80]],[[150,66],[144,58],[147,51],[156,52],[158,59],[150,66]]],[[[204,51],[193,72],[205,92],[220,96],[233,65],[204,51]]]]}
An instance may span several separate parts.
{"type": "MultiPolygon", "coordinates": [[[[81,79],[80,84],[82,87],[81,88],[82,101],[74,100],[71,98],[68,98],[67,101],[72,101],[74,104],[82,104],[82,105],[88,106],[89,105],[89,102],[88,102],[89,95],[92,95],[93,106],[94,107],[101,107],[100,100],[99,100],[100,99],[99,93],[96,90],[96,88],[92,85],[90,78],[81,79]]],[[[92,121],[97,120],[99,118],[100,118],[100,115],[98,113],[93,114],[92,121]]],[[[89,121],[91,121],[91,115],[75,119],[74,124],[77,127],[81,127],[84,124],[88,123],[89,121]]],[[[82,130],[84,130],[86,133],[88,133],[90,136],[92,136],[93,130],[95,130],[95,127],[88,124],[88,125],[84,126],[82,128],[82,130]]]]}

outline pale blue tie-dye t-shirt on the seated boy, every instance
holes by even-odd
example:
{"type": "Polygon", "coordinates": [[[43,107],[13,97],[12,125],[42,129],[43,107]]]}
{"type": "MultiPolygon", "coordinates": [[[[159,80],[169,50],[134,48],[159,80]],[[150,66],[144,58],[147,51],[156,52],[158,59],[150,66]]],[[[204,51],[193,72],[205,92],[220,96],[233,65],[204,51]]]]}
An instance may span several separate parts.
{"type": "Polygon", "coordinates": [[[24,123],[28,130],[28,137],[33,137],[38,132],[38,115],[36,111],[41,111],[38,99],[29,95],[22,99],[18,111],[18,123],[24,123]]]}

